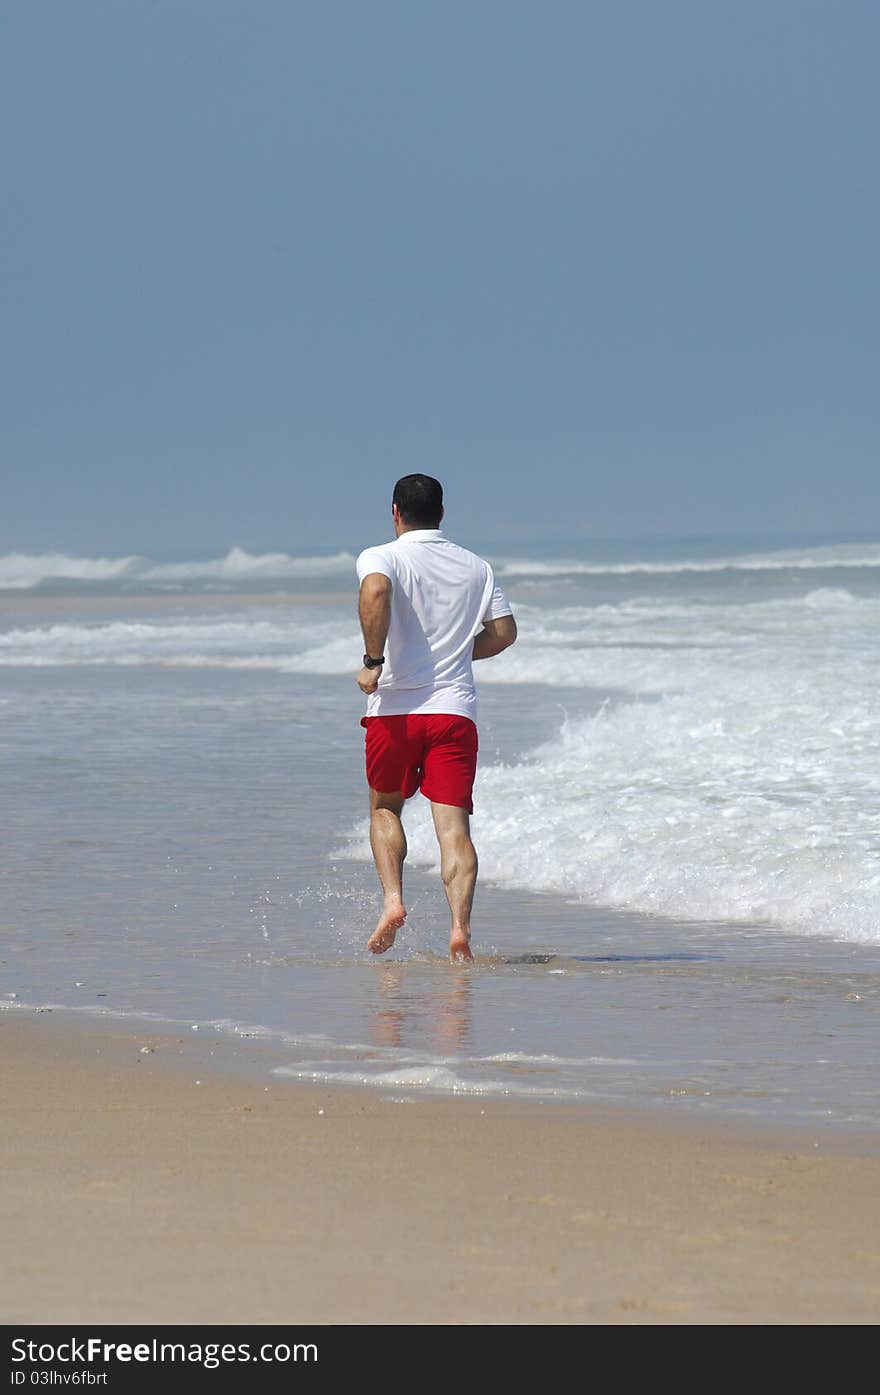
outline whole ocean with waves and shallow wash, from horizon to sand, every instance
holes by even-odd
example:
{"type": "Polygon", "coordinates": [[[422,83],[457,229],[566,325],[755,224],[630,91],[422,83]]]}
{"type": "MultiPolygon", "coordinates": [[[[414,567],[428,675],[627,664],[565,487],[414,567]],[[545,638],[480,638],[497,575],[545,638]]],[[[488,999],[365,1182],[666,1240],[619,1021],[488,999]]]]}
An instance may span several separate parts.
{"type": "Polygon", "coordinates": [[[418,795],[365,951],[350,552],[0,557],[0,1004],[402,1101],[880,1129],[880,543],[484,552],[473,970],[418,795]]]}

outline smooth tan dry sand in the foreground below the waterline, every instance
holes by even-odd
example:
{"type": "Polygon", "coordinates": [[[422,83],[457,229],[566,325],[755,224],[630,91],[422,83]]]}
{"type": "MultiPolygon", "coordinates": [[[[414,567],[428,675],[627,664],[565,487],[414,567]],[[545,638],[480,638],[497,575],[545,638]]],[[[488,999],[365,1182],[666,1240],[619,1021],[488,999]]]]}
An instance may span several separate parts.
{"type": "Polygon", "coordinates": [[[266,1087],[60,1013],[0,1042],[4,1322],[880,1315],[876,1140],[266,1087]]]}

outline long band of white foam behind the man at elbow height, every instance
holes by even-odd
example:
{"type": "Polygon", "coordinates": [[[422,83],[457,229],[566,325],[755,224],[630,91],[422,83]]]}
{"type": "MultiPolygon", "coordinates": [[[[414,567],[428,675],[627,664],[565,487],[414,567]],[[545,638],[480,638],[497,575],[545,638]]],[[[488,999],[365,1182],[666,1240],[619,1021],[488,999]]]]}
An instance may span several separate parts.
{"type": "MultiPolygon", "coordinates": [[[[478,668],[487,684],[547,684],[618,689],[640,696],[700,682],[707,667],[735,661],[763,667],[767,650],[798,668],[813,647],[858,660],[862,639],[880,625],[880,600],[820,589],[750,605],[632,600],[554,611],[517,607],[520,642],[478,668]]],[[[60,622],[0,631],[0,665],[117,664],[179,668],[344,674],[360,650],[346,614],[291,608],[272,618],[194,614],[173,622],[60,622]]]]}

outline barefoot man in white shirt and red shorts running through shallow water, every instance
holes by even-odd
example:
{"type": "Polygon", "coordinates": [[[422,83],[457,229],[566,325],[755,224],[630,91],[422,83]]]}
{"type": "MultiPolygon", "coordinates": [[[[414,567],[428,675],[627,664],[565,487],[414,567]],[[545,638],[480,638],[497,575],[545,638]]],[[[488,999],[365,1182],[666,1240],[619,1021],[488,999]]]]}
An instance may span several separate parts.
{"type": "Polygon", "coordinates": [[[471,960],[470,910],[477,854],[470,841],[477,771],[477,691],[471,661],[516,639],[516,621],[492,568],[441,533],[443,490],[406,474],[392,498],[396,540],[357,559],[367,693],[370,845],[385,905],[367,947],[384,954],[406,919],[400,822],[417,790],[431,801],[441,875],[452,912],[449,957],[471,960]]]}

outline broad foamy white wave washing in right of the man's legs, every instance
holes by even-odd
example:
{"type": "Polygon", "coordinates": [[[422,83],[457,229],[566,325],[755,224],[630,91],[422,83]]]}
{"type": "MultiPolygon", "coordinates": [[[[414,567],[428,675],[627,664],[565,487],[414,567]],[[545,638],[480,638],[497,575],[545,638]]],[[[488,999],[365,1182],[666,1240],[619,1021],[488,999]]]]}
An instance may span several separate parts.
{"type": "MultiPolygon", "coordinates": [[[[474,820],[499,886],[686,921],[880,943],[880,714],[873,684],[727,670],[562,725],[483,769],[474,820]]],[[[410,857],[435,866],[423,801],[410,857]]],[[[368,858],[360,830],[350,852],[368,858]]]]}

